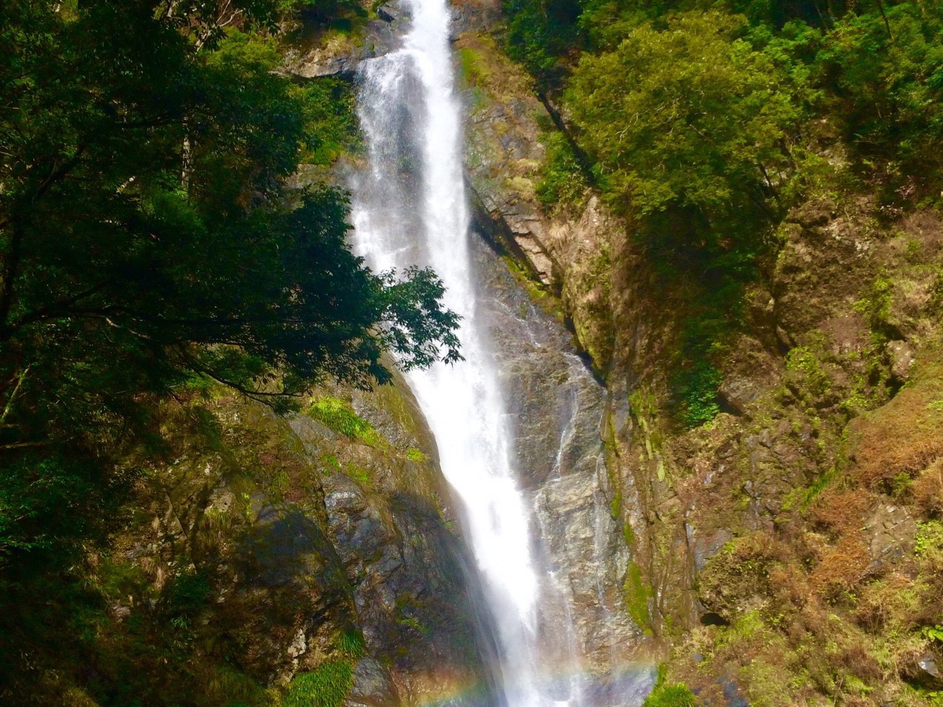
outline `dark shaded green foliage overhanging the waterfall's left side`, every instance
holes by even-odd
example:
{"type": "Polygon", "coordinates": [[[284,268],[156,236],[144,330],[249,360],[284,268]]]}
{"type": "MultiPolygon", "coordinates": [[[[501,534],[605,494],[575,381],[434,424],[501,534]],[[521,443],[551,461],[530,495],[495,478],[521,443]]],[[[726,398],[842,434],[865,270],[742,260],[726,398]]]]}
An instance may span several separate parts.
{"type": "Polygon", "coordinates": [[[356,146],[351,90],[276,71],[284,3],[221,7],[0,4],[5,704],[44,699],[50,626],[58,650],[88,653],[102,704],[190,703],[156,676],[186,671],[207,579],[179,568],[135,606],[113,670],[90,648],[104,598],[71,584],[124,521],[141,460],[168,452],[166,401],[223,382],[287,410],[322,376],[388,381],[386,352],[405,368],[458,356],[434,273],[367,270],[346,196],[290,188],[302,160],[356,146]]]}

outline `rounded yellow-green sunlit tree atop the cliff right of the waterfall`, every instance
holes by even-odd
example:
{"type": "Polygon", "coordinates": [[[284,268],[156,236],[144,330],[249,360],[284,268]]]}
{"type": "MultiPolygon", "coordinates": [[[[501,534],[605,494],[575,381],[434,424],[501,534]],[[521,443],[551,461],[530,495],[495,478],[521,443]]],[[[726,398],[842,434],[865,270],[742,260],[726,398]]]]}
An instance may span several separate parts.
{"type": "Polygon", "coordinates": [[[620,210],[685,213],[705,245],[782,215],[802,86],[738,38],[745,29],[736,15],[680,13],[582,58],[568,105],[620,210]]]}

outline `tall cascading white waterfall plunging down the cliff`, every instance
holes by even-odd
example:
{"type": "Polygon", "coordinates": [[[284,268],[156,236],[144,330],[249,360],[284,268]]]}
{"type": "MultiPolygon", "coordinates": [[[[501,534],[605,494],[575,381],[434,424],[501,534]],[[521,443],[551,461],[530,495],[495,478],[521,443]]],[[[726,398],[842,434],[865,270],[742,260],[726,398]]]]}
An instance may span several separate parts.
{"type": "MultiPolygon", "coordinates": [[[[470,544],[498,628],[509,707],[577,701],[550,697],[538,640],[538,570],[530,514],[512,469],[512,431],[476,301],[462,178],[446,0],[408,0],[403,46],[361,64],[359,114],[369,150],[354,180],[354,245],[377,271],[431,266],[462,316],[463,362],[408,376],[438,444],[446,479],[463,501],[470,544]]],[[[562,627],[567,633],[567,627],[562,627]]],[[[562,639],[569,642],[569,633],[562,639]]],[[[558,689],[558,686],[557,686],[558,689]]],[[[566,692],[566,691],[565,691],[566,692]]]]}

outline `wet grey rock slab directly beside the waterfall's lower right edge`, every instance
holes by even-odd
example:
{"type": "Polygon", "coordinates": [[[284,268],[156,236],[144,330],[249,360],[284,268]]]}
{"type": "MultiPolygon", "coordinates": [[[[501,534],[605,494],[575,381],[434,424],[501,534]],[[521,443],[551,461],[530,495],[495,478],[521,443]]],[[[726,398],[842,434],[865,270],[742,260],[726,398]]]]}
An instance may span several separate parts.
{"type": "MultiPolygon", "coordinates": [[[[562,323],[531,301],[484,240],[472,245],[514,420],[516,469],[545,549],[538,558],[548,570],[540,620],[571,623],[576,657],[590,676],[615,680],[637,659],[642,632],[622,603],[630,552],[612,513],[604,387],[562,323]]],[[[603,682],[592,689],[604,689],[603,682]]],[[[625,689],[612,703],[634,704],[632,695],[625,689]]]]}

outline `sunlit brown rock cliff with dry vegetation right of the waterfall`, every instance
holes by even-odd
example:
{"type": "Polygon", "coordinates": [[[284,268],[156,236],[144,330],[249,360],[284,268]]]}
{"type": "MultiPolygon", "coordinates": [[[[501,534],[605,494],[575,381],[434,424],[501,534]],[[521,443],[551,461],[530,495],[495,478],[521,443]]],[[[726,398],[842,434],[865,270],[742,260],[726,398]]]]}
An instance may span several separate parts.
{"type": "Polygon", "coordinates": [[[922,703],[941,684],[938,218],[867,193],[790,212],[720,366],[724,412],[687,430],[668,413],[683,303],[591,191],[541,207],[554,116],[487,26],[462,26],[478,227],[605,379],[586,407],[604,453],[587,431],[572,479],[534,479],[554,561],[579,565],[578,499],[606,517],[587,635],[629,617],[704,704],[922,703]]]}

